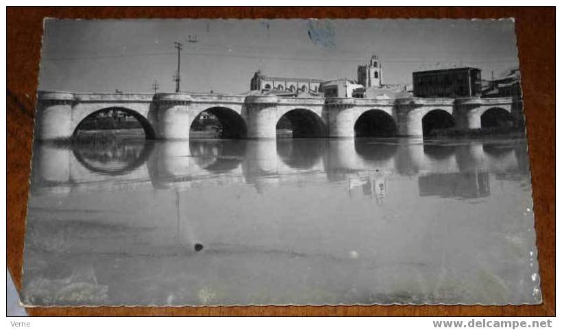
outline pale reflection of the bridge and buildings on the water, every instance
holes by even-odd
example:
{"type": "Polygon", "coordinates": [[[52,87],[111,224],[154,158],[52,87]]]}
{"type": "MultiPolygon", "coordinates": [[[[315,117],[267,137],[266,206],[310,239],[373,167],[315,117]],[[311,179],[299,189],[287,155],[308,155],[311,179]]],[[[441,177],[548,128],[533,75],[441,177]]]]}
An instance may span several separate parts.
{"type": "Polygon", "coordinates": [[[423,143],[421,139],[121,141],[73,146],[38,143],[32,192],[347,181],[384,197],[387,180],[417,176],[421,196],[489,194],[489,173],[528,175],[521,141],[423,143]]]}

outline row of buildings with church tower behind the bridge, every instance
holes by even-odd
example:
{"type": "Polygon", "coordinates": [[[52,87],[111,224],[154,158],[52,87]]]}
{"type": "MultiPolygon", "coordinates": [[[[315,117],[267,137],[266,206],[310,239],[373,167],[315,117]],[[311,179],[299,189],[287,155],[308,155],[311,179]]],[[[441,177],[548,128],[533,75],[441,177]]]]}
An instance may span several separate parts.
{"type": "Polygon", "coordinates": [[[460,67],[412,74],[412,84],[384,84],[382,63],[373,55],[369,62],[357,67],[357,79],[319,80],[288,78],[254,73],[251,91],[279,96],[303,93],[323,97],[398,98],[398,97],[506,97],[521,96],[519,69],[506,71],[500,78],[483,80],[481,70],[460,67]]]}

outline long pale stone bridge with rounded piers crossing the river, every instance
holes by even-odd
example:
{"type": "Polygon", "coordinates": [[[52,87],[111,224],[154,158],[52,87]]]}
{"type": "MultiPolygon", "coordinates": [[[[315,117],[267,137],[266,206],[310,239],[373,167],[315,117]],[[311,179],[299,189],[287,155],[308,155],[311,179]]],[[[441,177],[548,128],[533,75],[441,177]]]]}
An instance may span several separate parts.
{"type": "Polygon", "coordinates": [[[363,115],[395,127],[392,135],[424,134],[424,121],[448,122],[447,127],[480,128],[488,110],[522,121],[520,101],[500,98],[358,99],[225,95],[201,93],[38,93],[37,134],[40,140],[71,139],[86,117],[118,108],[133,115],[147,139],[188,139],[191,123],[206,111],[223,126],[223,138],[275,139],[284,115],[293,123],[294,137],[354,137],[363,115]]]}

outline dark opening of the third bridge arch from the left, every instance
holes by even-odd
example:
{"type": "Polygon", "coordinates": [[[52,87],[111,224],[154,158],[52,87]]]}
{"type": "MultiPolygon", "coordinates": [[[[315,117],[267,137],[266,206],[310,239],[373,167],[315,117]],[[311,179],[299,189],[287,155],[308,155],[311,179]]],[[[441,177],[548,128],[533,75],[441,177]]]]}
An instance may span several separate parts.
{"type": "Polygon", "coordinates": [[[328,135],[322,118],[307,108],[294,108],[282,113],[276,123],[276,130],[283,129],[291,130],[293,138],[326,137],[328,135]]]}

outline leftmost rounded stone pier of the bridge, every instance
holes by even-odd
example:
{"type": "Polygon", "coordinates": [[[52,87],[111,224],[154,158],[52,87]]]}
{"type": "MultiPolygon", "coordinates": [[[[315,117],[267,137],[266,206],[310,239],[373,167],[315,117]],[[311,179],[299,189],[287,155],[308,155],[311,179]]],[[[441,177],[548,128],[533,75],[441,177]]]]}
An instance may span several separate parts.
{"type": "Polygon", "coordinates": [[[73,93],[43,92],[38,94],[37,139],[62,140],[72,137],[73,99],[73,93]]]}

